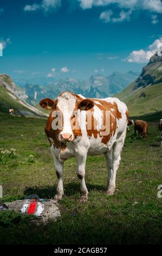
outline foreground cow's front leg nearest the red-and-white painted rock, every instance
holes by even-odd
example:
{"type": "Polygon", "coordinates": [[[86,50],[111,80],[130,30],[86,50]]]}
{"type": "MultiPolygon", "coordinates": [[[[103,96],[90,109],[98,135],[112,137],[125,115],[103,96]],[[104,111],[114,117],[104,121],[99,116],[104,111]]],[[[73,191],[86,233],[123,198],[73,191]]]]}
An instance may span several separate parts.
{"type": "Polygon", "coordinates": [[[56,175],[57,175],[57,193],[55,194],[55,200],[61,200],[63,196],[63,163],[60,162],[57,157],[52,154],[54,157],[55,162],[55,169],[56,169],[56,175]]]}

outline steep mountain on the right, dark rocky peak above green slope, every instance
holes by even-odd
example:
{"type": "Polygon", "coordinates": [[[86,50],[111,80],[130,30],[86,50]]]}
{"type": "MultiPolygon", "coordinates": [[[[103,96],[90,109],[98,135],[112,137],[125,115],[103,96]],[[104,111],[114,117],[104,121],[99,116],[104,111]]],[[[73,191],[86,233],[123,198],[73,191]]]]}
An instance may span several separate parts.
{"type": "Polygon", "coordinates": [[[162,110],[162,56],[151,57],[140,76],[122,92],[114,95],[124,101],[131,116],[162,110]]]}

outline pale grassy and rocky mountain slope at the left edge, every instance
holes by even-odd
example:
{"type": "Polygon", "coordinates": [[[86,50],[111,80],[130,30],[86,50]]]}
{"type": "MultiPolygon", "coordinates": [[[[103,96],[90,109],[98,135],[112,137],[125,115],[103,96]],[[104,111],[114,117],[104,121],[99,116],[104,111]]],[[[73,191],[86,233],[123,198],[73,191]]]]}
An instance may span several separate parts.
{"type": "Polygon", "coordinates": [[[48,116],[22,100],[26,100],[27,97],[8,75],[0,75],[0,112],[9,113],[9,109],[14,108],[14,112],[20,115],[48,116]],[[18,95],[21,96],[21,99],[18,95]]]}

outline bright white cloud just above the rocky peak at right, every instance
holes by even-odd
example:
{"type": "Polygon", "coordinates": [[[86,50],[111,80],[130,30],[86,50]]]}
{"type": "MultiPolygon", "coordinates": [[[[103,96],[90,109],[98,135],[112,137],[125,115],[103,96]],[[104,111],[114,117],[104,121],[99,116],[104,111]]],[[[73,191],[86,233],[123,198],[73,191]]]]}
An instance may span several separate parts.
{"type": "Polygon", "coordinates": [[[162,38],[155,40],[147,47],[147,50],[132,51],[125,60],[132,63],[147,63],[157,52],[160,42],[162,42],[162,38]]]}

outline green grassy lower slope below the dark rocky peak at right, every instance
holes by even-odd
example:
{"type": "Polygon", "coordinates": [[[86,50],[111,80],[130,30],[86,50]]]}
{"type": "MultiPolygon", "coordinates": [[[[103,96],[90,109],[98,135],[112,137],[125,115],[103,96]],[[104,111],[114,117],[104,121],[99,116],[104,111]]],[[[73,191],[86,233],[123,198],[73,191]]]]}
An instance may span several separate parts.
{"type": "Polygon", "coordinates": [[[162,111],[162,83],[136,90],[133,85],[115,95],[126,103],[131,117],[162,111]]]}

